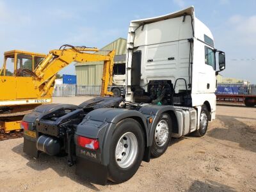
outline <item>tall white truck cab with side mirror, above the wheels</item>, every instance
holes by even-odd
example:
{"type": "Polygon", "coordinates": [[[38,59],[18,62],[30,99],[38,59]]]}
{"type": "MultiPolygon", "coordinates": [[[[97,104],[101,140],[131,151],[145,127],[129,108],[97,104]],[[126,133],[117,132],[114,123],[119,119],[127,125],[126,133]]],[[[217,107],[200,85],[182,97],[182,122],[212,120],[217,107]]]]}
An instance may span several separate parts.
{"type": "Polygon", "coordinates": [[[195,17],[193,6],[160,17],[132,20],[127,38],[125,98],[193,107],[216,113],[216,53],[212,33],[195,17]],[[157,89],[159,97],[157,99],[157,89]],[[161,101],[159,102],[159,100],[161,101]]]}

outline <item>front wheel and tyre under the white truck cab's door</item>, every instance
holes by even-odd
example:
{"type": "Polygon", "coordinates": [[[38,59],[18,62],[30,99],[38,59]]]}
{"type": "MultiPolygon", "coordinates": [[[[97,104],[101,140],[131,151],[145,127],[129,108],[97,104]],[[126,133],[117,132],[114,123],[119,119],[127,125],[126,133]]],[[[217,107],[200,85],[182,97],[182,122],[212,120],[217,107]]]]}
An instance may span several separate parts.
{"type": "Polygon", "coordinates": [[[210,113],[207,107],[203,105],[200,113],[200,127],[195,131],[195,136],[202,137],[205,135],[208,128],[209,116],[210,113]]]}

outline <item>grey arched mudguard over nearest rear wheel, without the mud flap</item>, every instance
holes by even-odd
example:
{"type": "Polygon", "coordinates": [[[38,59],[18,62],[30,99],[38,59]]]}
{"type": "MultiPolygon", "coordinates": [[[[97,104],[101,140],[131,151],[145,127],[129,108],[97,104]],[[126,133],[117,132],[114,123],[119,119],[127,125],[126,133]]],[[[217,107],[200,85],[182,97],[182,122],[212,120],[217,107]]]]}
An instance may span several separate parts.
{"type": "MultiPolygon", "coordinates": [[[[97,138],[100,143],[100,163],[109,163],[109,145],[116,124],[124,118],[140,118],[143,122],[143,129],[148,136],[147,119],[139,111],[129,109],[101,108],[88,113],[83,121],[77,125],[76,135],[88,138],[97,138]]],[[[146,141],[147,146],[148,142],[146,141]]]]}

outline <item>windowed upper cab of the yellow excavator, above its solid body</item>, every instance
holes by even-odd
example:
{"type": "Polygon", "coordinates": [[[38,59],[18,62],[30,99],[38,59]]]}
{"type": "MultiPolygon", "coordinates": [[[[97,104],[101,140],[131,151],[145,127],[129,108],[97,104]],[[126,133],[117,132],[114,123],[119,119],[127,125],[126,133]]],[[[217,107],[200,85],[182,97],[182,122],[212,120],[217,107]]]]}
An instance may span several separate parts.
{"type": "Polygon", "coordinates": [[[28,69],[33,72],[45,56],[46,54],[19,50],[4,52],[4,65],[1,68],[0,76],[28,77],[29,74],[20,73],[20,69],[28,69]]]}

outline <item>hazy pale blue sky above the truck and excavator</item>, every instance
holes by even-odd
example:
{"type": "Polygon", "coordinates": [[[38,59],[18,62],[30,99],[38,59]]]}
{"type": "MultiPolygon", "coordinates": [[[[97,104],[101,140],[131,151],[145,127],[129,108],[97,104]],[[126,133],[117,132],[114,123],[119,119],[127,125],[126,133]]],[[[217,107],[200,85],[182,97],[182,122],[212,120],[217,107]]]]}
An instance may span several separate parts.
{"type": "MultiPolygon", "coordinates": [[[[44,52],[63,44],[103,47],[127,38],[129,21],[164,15],[190,5],[226,52],[225,77],[256,83],[256,1],[4,1],[0,0],[0,52],[44,52]],[[246,3],[245,3],[246,2],[246,3]]],[[[74,65],[61,74],[74,74],[74,65]]]]}

